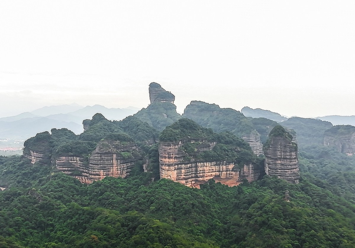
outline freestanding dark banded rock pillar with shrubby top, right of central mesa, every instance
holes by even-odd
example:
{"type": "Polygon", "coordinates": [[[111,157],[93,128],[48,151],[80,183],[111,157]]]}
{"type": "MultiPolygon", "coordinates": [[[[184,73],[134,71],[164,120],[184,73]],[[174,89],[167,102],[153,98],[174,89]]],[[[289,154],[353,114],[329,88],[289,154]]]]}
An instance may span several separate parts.
{"type": "Polygon", "coordinates": [[[267,175],[277,176],[293,184],[299,183],[297,146],[292,142],[292,136],[281,126],[275,126],[271,131],[264,146],[264,154],[267,175]],[[278,132],[279,130],[282,132],[278,132]]]}

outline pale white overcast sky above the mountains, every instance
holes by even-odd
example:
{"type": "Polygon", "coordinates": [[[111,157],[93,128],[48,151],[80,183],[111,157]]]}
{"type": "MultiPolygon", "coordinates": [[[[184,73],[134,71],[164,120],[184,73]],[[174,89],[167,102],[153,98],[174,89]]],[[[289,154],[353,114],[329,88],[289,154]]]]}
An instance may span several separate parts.
{"type": "Polygon", "coordinates": [[[355,115],[355,1],[0,1],[0,117],[193,100],[355,115]]]}

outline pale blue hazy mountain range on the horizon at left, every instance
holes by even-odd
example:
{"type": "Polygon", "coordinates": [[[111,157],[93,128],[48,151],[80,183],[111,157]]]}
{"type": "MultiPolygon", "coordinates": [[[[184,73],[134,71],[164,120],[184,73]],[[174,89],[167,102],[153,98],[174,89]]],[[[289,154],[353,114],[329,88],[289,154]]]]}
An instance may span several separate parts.
{"type": "Polygon", "coordinates": [[[106,108],[101,105],[80,106],[71,105],[46,106],[32,112],[0,118],[0,138],[26,140],[43,131],[52,128],[67,128],[76,134],[83,132],[82,121],[91,119],[96,113],[102,113],[109,120],[122,120],[137,113],[140,108],[106,108]]]}

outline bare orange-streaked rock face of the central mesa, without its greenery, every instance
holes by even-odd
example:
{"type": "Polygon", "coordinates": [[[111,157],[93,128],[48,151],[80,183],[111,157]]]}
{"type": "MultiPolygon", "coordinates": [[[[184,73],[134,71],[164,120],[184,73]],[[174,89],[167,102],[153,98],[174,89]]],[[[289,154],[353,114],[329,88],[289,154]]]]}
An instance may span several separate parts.
{"type": "Polygon", "coordinates": [[[211,150],[216,142],[206,140],[181,140],[176,143],[161,142],[159,144],[160,178],[167,178],[180,182],[189,187],[199,188],[209,179],[228,186],[239,185],[243,179],[249,182],[258,180],[263,173],[263,168],[255,164],[244,164],[241,168],[234,162],[211,161],[202,162],[190,160],[181,150],[186,142],[202,142],[197,147],[197,152],[211,150]]]}

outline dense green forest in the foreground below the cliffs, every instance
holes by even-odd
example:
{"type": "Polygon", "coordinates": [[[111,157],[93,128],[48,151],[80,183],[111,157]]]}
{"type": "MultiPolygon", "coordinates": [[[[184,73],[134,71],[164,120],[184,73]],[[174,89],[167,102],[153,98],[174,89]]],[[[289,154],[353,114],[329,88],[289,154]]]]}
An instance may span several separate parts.
{"type": "Polygon", "coordinates": [[[48,165],[0,157],[0,178],[11,181],[0,193],[0,244],[354,247],[354,191],[312,174],[307,163],[314,160],[302,157],[308,172],[298,185],[265,177],[237,187],[211,180],[198,190],[166,179],[151,182],[140,170],[83,185],[48,165]]]}

